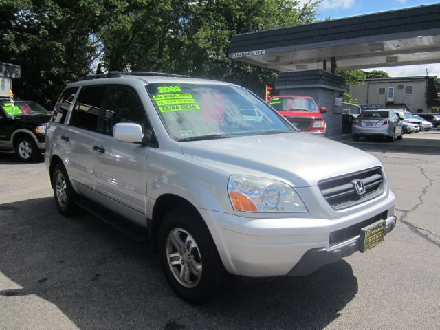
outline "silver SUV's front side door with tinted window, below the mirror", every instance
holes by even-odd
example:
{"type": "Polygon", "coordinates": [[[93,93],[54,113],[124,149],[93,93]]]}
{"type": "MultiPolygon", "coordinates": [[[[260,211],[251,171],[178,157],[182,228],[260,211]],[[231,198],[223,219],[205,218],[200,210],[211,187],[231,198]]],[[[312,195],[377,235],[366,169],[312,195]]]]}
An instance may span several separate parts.
{"type": "MultiPolygon", "coordinates": [[[[93,159],[95,190],[107,197],[109,208],[133,219],[133,212],[146,219],[146,157],[150,148],[137,143],[120,142],[113,137],[113,126],[120,122],[151,128],[135,89],[125,85],[109,86],[107,101],[101,113],[100,132],[94,137],[93,159]],[[128,207],[129,214],[116,203],[128,207]]],[[[134,216],[136,219],[137,217],[134,216]]],[[[146,225],[146,223],[140,223],[146,225]]]]}

